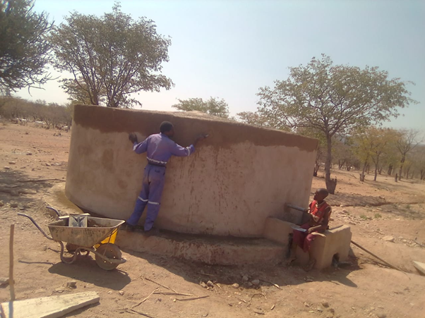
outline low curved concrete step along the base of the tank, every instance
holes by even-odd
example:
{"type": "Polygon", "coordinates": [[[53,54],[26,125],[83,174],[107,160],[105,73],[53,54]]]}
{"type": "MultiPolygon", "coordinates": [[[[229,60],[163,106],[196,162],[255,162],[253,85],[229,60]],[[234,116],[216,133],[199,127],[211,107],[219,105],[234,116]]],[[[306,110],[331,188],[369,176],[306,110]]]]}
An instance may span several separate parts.
{"type": "Polygon", "coordinates": [[[126,252],[147,252],[219,265],[277,264],[284,259],[285,247],[264,238],[198,236],[182,233],[143,233],[119,231],[116,245],[126,252]]]}

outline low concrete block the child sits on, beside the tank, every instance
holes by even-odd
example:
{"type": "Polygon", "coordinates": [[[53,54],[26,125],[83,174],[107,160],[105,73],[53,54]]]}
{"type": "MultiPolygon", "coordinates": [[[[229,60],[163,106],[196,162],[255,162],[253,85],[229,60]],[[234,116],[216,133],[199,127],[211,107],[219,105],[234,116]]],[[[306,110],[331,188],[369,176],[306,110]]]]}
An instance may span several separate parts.
{"type": "MultiPolygon", "coordinates": [[[[265,221],[263,236],[275,243],[279,243],[285,248],[285,255],[289,248],[289,235],[294,231],[294,225],[287,221],[282,221],[270,217],[265,221]]],[[[349,226],[338,226],[325,231],[325,237],[317,236],[311,245],[313,255],[316,258],[316,269],[324,269],[332,264],[333,256],[337,255],[340,261],[348,258],[349,245],[352,233],[349,226]]],[[[301,264],[306,264],[309,257],[300,248],[297,249],[297,257],[301,264]]]]}

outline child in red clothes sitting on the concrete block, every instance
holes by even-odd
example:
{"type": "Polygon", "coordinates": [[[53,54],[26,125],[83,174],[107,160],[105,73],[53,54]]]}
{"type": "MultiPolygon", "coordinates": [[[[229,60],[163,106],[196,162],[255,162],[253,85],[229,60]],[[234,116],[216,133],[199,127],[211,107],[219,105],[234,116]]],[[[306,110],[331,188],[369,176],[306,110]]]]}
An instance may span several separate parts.
{"type": "Polygon", "coordinates": [[[328,228],[330,214],[332,208],[326,203],[325,198],[328,197],[328,190],[318,189],[314,193],[313,201],[309,205],[309,209],[305,212],[309,213],[310,219],[306,224],[301,225],[305,232],[294,230],[294,236],[292,237],[291,256],[289,257],[289,263],[291,264],[297,259],[296,251],[297,246],[301,247],[304,252],[309,252],[309,264],[306,265],[306,271],[313,269],[316,264],[311,252],[311,242],[316,238],[315,232],[323,233],[328,228]]]}

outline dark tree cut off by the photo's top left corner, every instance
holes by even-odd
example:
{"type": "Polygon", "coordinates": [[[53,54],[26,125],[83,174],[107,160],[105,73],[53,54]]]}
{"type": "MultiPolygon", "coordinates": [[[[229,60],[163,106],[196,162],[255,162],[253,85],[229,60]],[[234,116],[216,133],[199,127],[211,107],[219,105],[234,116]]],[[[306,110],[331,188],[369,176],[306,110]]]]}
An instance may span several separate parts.
{"type": "Polygon", "coordinates": [[[32,0],[0,1],[0,91],[40,87],[51,78],[44,66],[53,23],[33,8],[32,0]]]}

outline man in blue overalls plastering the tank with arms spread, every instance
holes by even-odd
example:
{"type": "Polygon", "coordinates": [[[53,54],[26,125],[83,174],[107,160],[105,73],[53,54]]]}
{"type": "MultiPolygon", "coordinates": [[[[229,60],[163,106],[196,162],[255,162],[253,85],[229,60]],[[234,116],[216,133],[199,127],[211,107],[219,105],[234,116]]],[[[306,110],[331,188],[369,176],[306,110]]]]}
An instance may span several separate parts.
{"type": "Polygon", "coordinates": [[[188,157],[195,152],[195,146],[208,135],[200,135],[189,147],[181,147],[170,138],[174,136],[174,127],[169,121],[164,121],[160,126],[161,133],[150,135],[143,142],[138,142],[137,136],[133,133],[128,135],[128,139],[133,142],[133,151],[136,154],[146,152],[148,165],[143,174],[143,187],[136,201],[136,207],[130,218],[126,221],[127,231],[133,231],[138,224],[143,210],[148,205],[148,212],[145,220],[145,233],[156,233],[153,224],[160,212],[162,190],[165,181],[165,166],[172,156],[188,157]]]}

